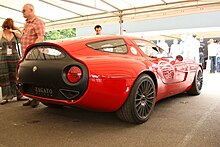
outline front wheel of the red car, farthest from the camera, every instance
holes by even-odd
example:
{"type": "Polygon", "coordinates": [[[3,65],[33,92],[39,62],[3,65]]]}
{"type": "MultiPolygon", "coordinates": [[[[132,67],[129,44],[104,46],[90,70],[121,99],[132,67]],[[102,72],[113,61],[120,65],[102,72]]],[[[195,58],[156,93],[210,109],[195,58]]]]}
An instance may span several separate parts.
{"type": "Polygon", "coordinates": [[[199,67],[196,71],[192,87],[187,91],[189,95],[199,95],[202,90],[203,85],[203,72],[201,67],[199,67]]]}

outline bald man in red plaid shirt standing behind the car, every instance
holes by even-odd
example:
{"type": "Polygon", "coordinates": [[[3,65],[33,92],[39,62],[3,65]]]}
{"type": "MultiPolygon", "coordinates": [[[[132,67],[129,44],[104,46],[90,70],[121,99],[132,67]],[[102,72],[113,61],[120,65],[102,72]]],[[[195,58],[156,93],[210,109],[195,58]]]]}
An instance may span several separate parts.
{"type": "MultiPolygon", "coordinates": [[[[22,13],[24,18],[26,18],[21,37],[21,48],[24,54],[29,45],[44,41],[45,23],[35,15],[34,6],[32,4],[25,4],[22,13]]],[[[39,101],[29,99],[26,103],[23,103],[23,106],[30,105],[35,108],[39,105],[39,101]]]]}

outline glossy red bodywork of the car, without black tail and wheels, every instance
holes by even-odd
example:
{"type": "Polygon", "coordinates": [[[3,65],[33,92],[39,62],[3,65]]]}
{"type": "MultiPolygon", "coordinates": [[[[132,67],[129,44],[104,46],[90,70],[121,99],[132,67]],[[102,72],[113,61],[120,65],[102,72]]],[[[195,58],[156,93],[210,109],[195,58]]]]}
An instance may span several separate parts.
{"type": "MultiPolygon", "coordinates": [[[[175,61],[174,58],[150,58],[134,43],[132,37],[102,36],[53,43],[62,47],[73,59],[83,63],[88,70],[88,88],[77,100],[57,100],[23,93],[40,101],[73,105],[95,111],[113,112],[126,101],[132,85],[139,75],[148,73],[154,79],[160,99],[187,91],[193,82],[198,64],[192,61],[175,61]],[[89,42],[122,38],[127,44],[127,54],[100,52],[86,46],[89,42]],[[131,52],[137,50],[137,54],[131,52]]],[[[25,55],[33,47],[29,46],[25,55]]],[[[24,59],[21,62],[23,62],[24,59]]],[[[53,74],[53,73],[51,73],[53,74]]]]}

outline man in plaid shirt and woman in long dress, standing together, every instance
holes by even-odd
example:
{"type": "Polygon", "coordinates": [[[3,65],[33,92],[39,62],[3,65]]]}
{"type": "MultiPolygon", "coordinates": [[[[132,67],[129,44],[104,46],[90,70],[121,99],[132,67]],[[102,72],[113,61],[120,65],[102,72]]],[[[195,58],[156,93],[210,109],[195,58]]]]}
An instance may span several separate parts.
{"type": "Polygon", "coordinates": [[[27,99],[16,88],[16,65],[20,60],[20,50],[18,50],[18,39],[21,43],[24,54],[27,46],[33,43],[44,41],[45,23],[34,13],[32,4],[25,4],[22,9],[23,17],[26,18],[24,29],[20,30],[14,25],[11,18],[7,18],[3,24],[3,31],[0,34],[0,94],[1,104],[8,103],[14,97],[17,100],[27,100],[23,106],[38,106],[39,102],[27,99]]]}

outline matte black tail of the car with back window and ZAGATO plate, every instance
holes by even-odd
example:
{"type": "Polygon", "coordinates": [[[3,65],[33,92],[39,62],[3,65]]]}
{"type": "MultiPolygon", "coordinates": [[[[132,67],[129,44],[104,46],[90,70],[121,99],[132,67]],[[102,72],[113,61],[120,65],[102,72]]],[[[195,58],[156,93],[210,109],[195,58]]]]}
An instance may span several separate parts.
{"type": "Polygon", "coordinates": [[[87,90],[88,70],[62,47],[38,43],[28,48],[17,66],[17,87],[41,101],[76,101],[87,90]]]}

